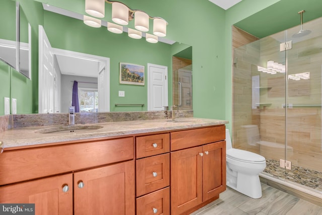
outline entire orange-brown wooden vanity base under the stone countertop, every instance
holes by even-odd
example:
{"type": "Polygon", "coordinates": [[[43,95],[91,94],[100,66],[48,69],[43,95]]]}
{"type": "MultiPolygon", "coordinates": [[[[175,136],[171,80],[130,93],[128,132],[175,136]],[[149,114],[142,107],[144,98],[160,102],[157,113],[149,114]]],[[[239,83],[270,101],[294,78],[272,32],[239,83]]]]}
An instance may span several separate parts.
{"type": "Polygon", "coordinates": [[[36,214],[189,214],[226,188],[225,126],[7,150],[0,202],[36,214]]]}

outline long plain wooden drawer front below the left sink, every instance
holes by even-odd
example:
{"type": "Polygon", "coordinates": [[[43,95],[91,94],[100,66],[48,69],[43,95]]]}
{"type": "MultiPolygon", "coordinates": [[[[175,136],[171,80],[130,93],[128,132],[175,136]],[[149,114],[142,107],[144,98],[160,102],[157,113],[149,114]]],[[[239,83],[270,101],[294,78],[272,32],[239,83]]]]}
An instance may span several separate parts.
{"type": "Polygon", "coordinates": [[[0,156],[0,185],[133,158],[133,137],[5,151],[0,156]]]}

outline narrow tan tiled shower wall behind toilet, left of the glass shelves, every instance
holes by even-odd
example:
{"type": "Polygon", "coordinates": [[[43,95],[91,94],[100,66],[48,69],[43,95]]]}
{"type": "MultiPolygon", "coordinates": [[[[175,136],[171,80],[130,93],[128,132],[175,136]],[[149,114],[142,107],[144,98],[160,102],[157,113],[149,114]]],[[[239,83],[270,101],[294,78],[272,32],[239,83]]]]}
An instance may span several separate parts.
{"type": "Polygon", "coordinates": [[[234,148],[259,153],[259,147],[252,147],[247,144],[245,132],[241,127],[241,125],[259,125],[260,123],[259,110],[252,109],[251,61],[258,64],[260,60],[259,43],[254,42],[256,40],[258,40],[257,37],[232,26],[233,59],[236,59],[232,74],[232,144],[234,148]]]}

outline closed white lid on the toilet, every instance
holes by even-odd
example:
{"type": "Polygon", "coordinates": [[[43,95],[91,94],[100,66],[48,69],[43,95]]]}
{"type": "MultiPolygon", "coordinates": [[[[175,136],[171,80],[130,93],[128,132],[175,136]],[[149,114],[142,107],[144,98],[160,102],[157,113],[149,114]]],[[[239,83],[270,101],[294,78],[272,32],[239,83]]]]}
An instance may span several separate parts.
{"type": "Polygon", "coordinates": [[[248,163],[262,163],[265,161],[265,158],[261,155],[238,149],[227,150],[226,156],[230,159],[248,163]]]}

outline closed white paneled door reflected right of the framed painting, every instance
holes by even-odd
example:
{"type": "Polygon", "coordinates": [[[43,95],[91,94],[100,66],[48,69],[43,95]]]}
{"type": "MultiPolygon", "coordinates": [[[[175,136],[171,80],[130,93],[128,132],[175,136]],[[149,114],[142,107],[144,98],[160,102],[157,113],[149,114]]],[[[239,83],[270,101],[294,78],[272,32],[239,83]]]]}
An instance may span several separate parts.
{"type": "Polygon", "coordinates": [[[147,110],[165,110],[168,106],[168,66],[147,64],[147,110]]]}

